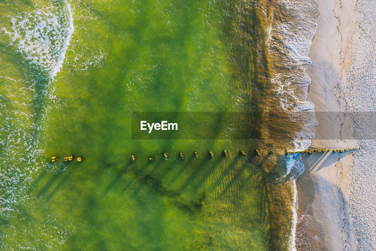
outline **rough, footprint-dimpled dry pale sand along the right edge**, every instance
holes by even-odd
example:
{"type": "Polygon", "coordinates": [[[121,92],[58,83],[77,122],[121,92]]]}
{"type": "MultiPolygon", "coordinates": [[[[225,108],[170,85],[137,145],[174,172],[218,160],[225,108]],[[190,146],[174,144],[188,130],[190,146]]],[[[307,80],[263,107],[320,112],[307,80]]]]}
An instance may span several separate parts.
{"type": "Polygon", "coordinates": [[[347,99],[353,110],[356,152],[347,190],[358,250],[376,249],[376,2],[356,2],[359,28],[353,37],[351,67],[346,71],[347,99]]]}

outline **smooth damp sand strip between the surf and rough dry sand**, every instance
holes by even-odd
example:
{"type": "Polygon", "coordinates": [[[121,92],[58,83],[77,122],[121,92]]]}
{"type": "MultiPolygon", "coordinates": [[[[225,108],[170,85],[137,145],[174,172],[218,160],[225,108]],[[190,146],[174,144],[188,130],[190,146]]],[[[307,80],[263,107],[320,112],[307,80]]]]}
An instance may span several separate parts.
{"type": "MultiPolygon", "coordinates": [[[[351,66],[348,46],[356,30],[354,3],[316,1],[321,15],[308,54],[312,64],[306,70],[311,78],[307,101],[314,104],[318,122],[315,127],[318,139],[311,140],[311,148],[356,147],[356,141],[346,137],[352,135],[350,121],[340,114],[349,108],[344,75],[351,66]],[[337,113],[338,116],[333,116],[337,113]]],[[[302,155],[305,171],[296,181],[298,250],[308,250],[308,246],[320,250],[356,248],[347,194],[352,155],[346,152],[302,155]]]]}

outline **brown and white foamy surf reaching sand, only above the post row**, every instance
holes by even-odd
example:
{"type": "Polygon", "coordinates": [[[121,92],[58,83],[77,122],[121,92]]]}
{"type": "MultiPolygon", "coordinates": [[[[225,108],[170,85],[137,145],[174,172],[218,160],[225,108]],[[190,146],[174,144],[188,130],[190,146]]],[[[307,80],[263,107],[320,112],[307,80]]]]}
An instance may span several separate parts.
{"type": "Polygon", "coordinates": [[[265,55],[271,85],[268,89],[275,97],[269,110],[282,114],[280,121],[273,117],[268,126],[275,129],[275,124],[286,125],[286,132],[280,134],[288,135],[290,140],[283,140],[290,142],[287,148],[305,150],[317,125],[314,105],[306,101],[311,82],[306,69],[311,64],[308,51],[320,11],[315,0],[277,0],[268,5],[270,28],[265,55]]]}

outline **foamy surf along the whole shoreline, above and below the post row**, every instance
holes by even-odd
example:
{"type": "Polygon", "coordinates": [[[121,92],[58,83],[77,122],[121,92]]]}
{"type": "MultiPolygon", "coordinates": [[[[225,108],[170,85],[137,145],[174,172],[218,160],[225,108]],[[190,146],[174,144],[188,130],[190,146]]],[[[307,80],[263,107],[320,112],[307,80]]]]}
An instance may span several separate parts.
{"type": "MultiPolygon", "coordinates": [[[[269,82],[264,94],[268,107],[268,116],[264,117],[264,141],[270,145],[277,142],[281,150],[306,150],[317,125],[314,105],[306,101],[311,82],[306,69],[311,64],[308,52],[320,16],[318,3],[315,0],[272,0],[265,5],[268,10],[265,13],[268,19],[265,58],[269,82]]],[[[304,165],[299,155],[286,156],[285,161],[286,174],[282,179],[293,184],[288,193],[291,225],[286,248],[296,250],[296,178],[303,173],[304,165]]]]}

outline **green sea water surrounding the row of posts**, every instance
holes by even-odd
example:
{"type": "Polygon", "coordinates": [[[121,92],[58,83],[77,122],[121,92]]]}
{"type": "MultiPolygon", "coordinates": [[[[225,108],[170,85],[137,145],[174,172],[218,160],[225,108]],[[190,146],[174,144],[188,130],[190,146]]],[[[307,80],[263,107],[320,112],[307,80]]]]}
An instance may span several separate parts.
{"type": "Polygon", "coordinates": [[[0,17],[3,250],[288,249],[291,184],[257,140],[131,138],[132,112],[254,112],[217,129],[258,133],[258,2],[0,1],[0,17]]]}

